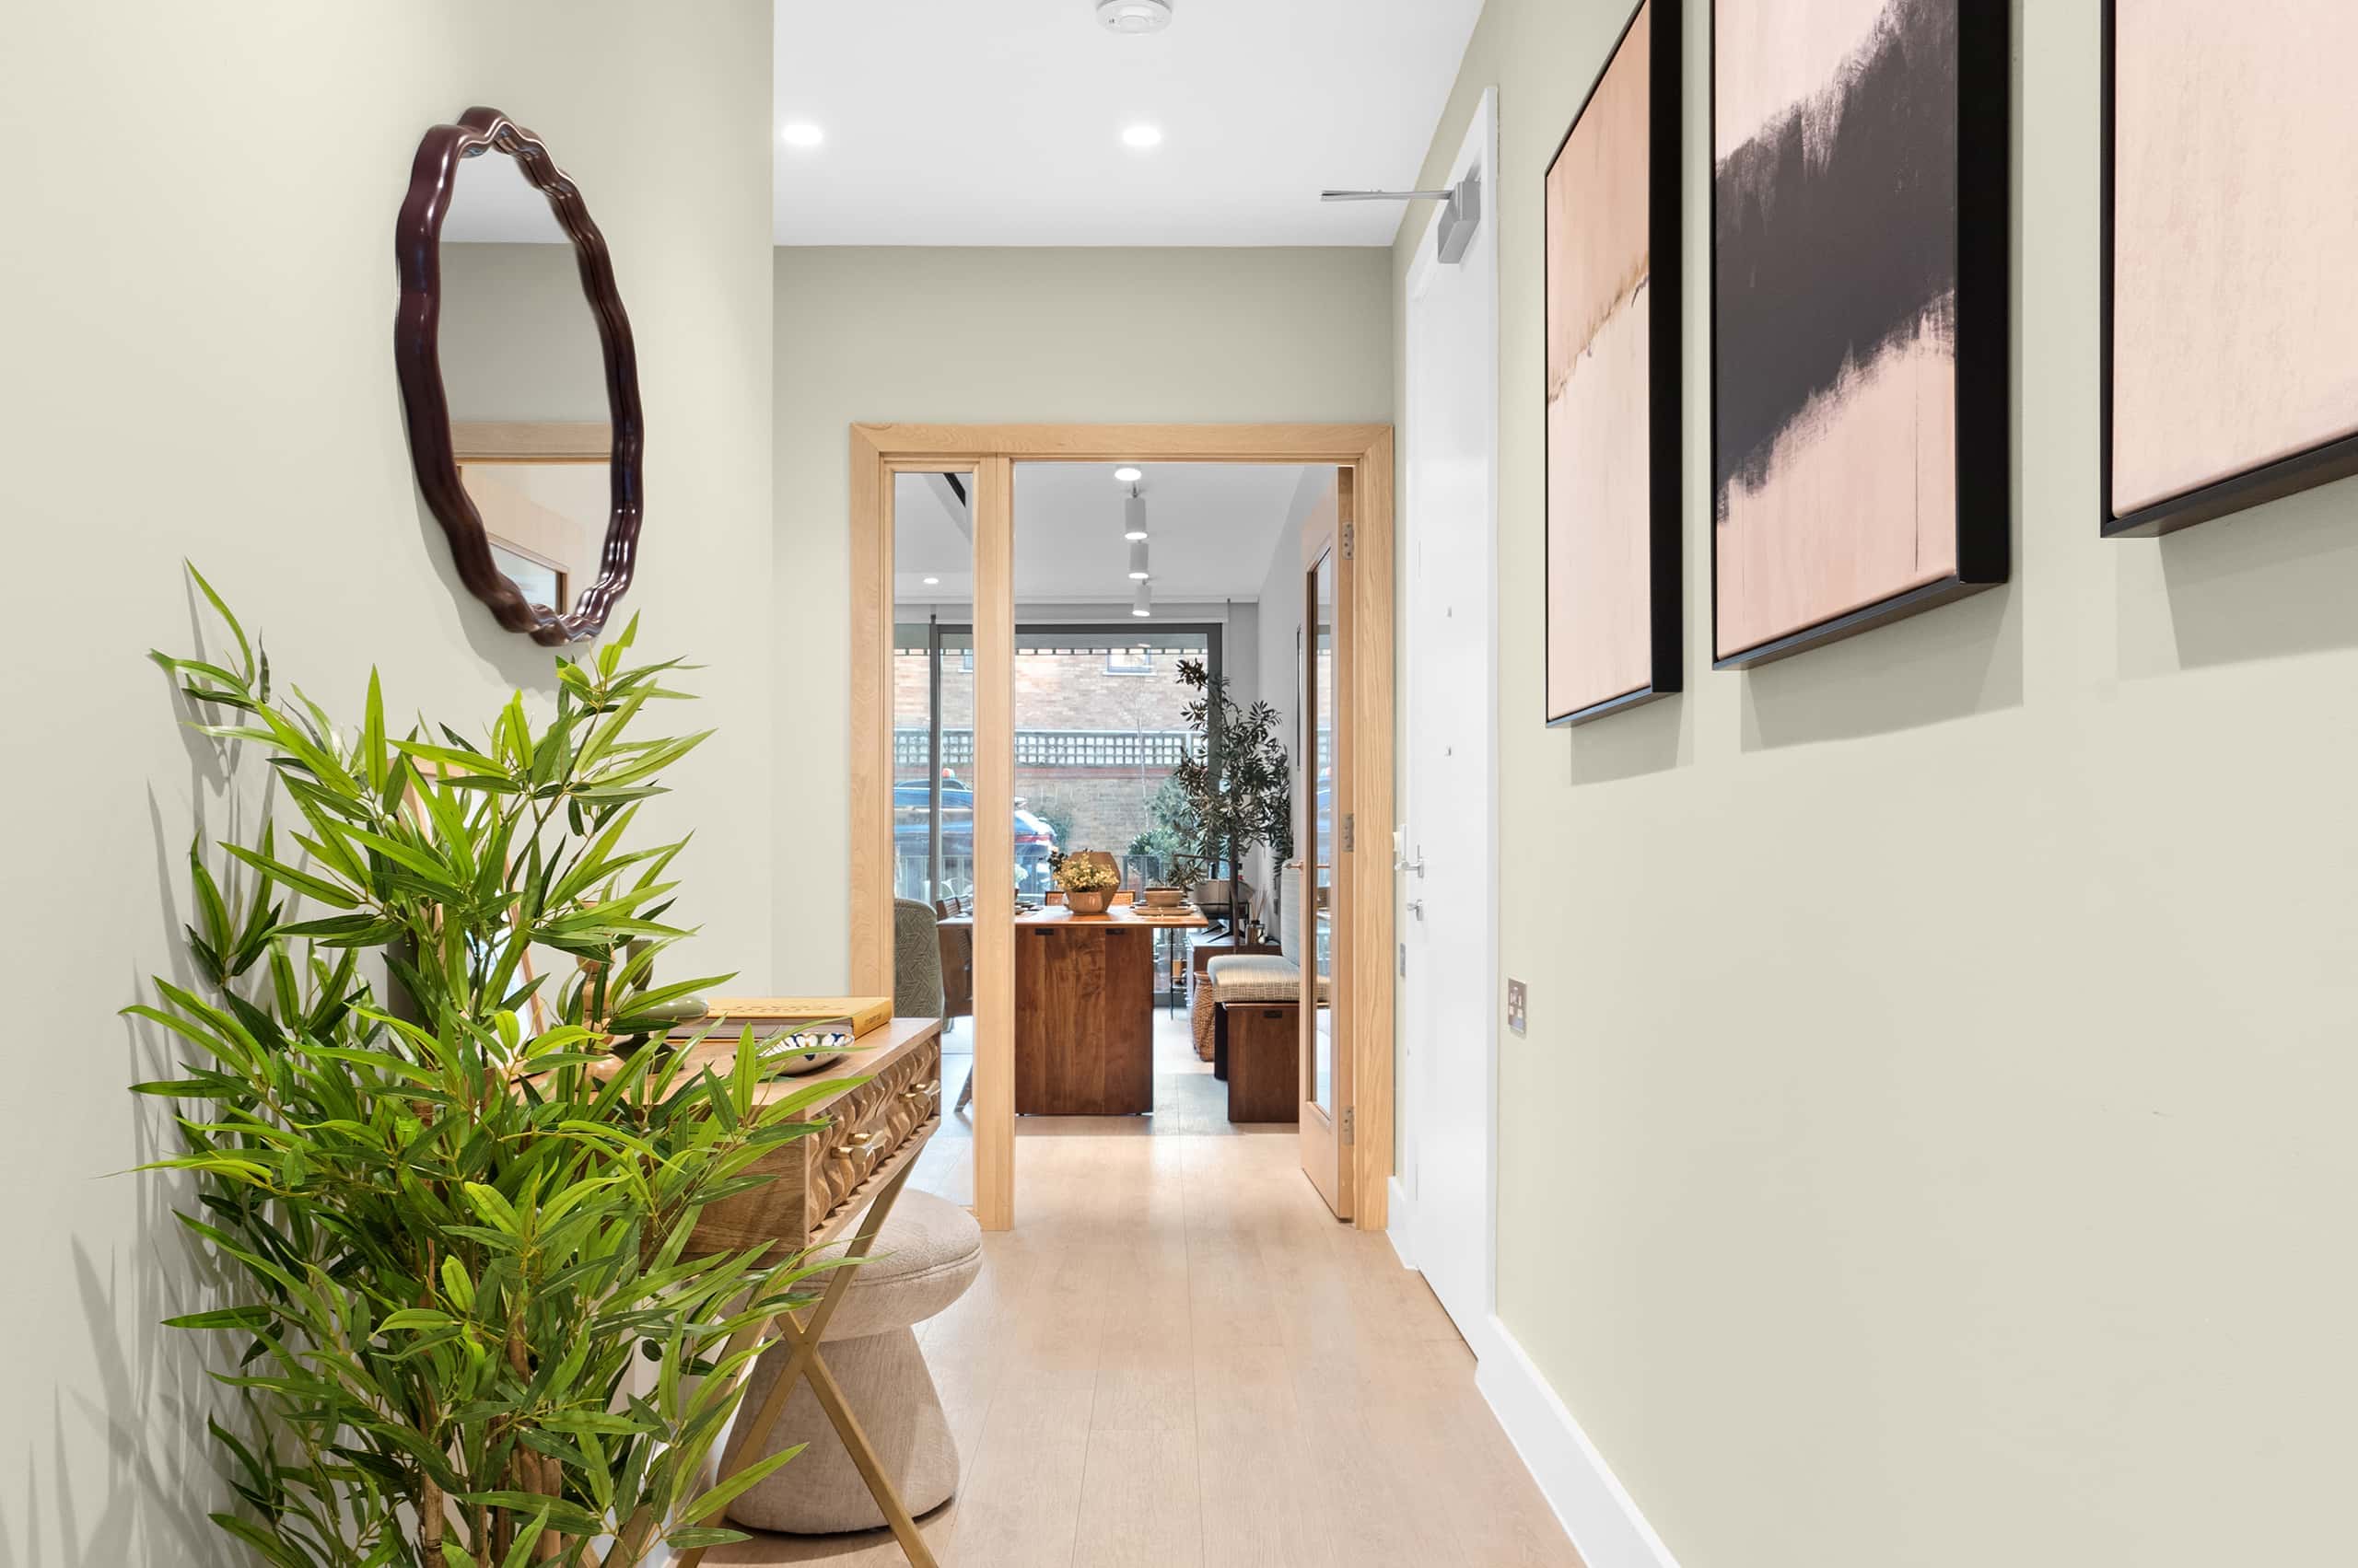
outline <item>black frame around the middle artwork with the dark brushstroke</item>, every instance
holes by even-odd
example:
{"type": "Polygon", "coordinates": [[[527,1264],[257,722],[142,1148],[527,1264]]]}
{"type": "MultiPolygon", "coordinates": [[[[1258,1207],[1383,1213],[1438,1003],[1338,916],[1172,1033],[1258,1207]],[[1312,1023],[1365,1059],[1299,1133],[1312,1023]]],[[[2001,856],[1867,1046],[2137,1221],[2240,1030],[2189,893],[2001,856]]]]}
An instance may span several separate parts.
{"type": "MultiPolygon", "coordinates": [[[[1705,146],[1712,170],[1712,472],[1719,469],[1719,5],[1712,0],[1705,146]]],[[[1957,0],[1957,571],[1764,644],[1719,653],[1712,516],[1712,670],[1752,670],[2000,587],[2014,568],[2011,233],[2014,5],[1957,0]]],[[[1717,502],[1714,502],[1717,507],[1717,502]]]]}

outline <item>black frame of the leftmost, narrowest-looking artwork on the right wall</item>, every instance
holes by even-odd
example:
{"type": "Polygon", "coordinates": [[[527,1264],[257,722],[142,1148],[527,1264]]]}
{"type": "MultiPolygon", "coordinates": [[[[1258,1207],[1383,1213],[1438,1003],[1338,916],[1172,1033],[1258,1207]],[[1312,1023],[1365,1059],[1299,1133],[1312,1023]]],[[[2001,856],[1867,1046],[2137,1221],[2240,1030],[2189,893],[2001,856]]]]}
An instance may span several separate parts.
{"type": "MultiPolygon", "coordinates": [[[[1646,80],[1646,288],[1653,295],[1648,309],[1648,342],[1646,342],[1646,486],[1648,486],[1648,533],[1646,533],[1646,615],[1648,615],[1648,679],[1636,691],[1625,691],[1622,696],[1606,698],[1601,703],[1589,703],[1587,707],[1575,707],[1570,712],[1549,712],[1549,729],[1568,729],[1575,724],[1592,724],[1608,714],[1627,712],[1632,707],[1644,707],[1667,696],[1677,696],[1686,689],[1686,561],[1684,561],[1684,538],[1686,538],[1686,493],[1684,472],[1686,462],[1681,455],[1684,427],[1686,427],[1686,325],[1684,325],[1684,288],[1681,274],[1686,269],[1684,252],[1684,217],[1679,203],[1679,174],[1686,167],[1681,156],[1684,137],[1684,33],[1681,12],[1684,0],[1639,0],[1629,7],[1629,17],[1622,21],[1620,33],[1613,38],[1613,47],[1606,50],[1603,64],[1589,80],[1589,90],[1580,94],[1580,108],[1573,111],[1570,125],[1563,127],[1563,137],[1556,141],[1556,151],[1547,156],[1547,170],[1540,174],[1542,189],[1542,212],[1544,212],[1544,189],[1547,179],[1554,177],[1556,163],[1563,158],[1563,149],[1573,144],[1573,134],[1580,130],[1580,120],[1587,116],[1589,104],[1596,101],[1596,92],[1603,87],[1606,75],[1611,75],[1613,64],[1620,59],[1622,47],[1629,42],[1629,31],[1636,28],[1636,19],[1646,14],[1653,5],[1648,26],[1653,31],[1648,45],[1648,80],[1646,80]]],[[[1540,295],[1542,316],[1540,332],[1542,344],[1554,321],[1554,257],[1544,252],[1547,248],[1547,224],[1542,222],[1542,269],[1540,269],[1540,295]]],[[[1542,498],[1554,495],[1552,467],[1556,460],[1554,441],[1547,439],[1547,387],[1540,387],[1540,493],[1542,498]]],[[[1549,592],[1549,568],[1547,556],[1554,549],[1556,526],[1554,516],[1542,500],[1540,507],[1540,620],[1542,620],[1542,658],[1554,648],[1556,639],[1556,606],[1549,592]]],[[[1547,681],[1540,681],[1540,700],[1547,703],[1547,681]]]]}

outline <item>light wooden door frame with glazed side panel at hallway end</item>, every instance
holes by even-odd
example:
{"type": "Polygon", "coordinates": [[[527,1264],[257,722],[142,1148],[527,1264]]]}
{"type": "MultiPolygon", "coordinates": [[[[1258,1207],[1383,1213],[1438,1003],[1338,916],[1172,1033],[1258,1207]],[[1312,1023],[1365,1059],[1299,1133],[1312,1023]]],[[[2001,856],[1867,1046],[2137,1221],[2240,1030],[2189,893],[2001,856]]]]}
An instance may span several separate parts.
{"type": "MultiPolygon", "coordinates": [[[[854,424],[851,427],[851,990],[894,990],[891,627],[894,476],[974,474],[974,821],[1014,816],[1014,465],[1299,462],[1351,476],[1342,589],[1353,613],[1349,724],[1356,762],[1344,811],[1351,856],[1384,875],[1353,882],[1351,983],[1353,1224],[1382,1231],[1391,1177],[1391,769],[1394,512],[1389,424],[854,424]],[[995,743],[997,740],[997,743],[995,743]],[[1370,858],[1372,856],[1372,858],[1370,858]]],[[[1014,1228],[1014,842],[974,835],[974,1217],[1014,1228]],[[988,851],[986,851],[988,846],[988,851]],[[1002,865],[1005,861],[1005,865],[1002,865]]]]}

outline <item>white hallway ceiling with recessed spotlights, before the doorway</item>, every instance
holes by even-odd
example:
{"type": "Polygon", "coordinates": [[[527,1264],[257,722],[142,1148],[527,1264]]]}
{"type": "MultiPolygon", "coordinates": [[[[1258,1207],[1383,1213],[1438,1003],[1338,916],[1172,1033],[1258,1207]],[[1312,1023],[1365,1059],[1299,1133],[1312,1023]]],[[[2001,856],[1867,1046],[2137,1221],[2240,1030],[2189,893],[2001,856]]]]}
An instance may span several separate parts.
{"type": "Polygon", "coordinates": [[[778,0],[780,245],[1384,245],[1481,0],[778,0]],[[1162,130],[1132,151],[1120,132],[1162,130]]]}

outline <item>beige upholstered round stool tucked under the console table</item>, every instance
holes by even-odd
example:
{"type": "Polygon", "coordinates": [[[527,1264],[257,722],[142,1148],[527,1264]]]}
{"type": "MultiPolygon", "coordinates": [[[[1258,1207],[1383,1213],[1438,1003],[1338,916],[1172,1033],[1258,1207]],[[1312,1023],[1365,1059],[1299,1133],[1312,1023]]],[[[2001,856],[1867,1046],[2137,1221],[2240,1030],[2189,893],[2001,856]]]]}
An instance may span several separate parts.
{"type": "MultiPolygon", "coordinates": [[[[821,1257],[839,1252],[842,1247],[825,1247],[821,1257]]],[[[950,1438],[941,1394],[934,1389],[934,1375],[924,1370],[924,1353],[917,1351],[910,1325],[924,1323],[967,1294],[981,1269],[983,1228],[974,1224],[974,1214],[934,1193],[903,1191],[870,1250],[870,1261],[858,1264],[821,1337],[823,1358],[844,1389],[844,1403],[858,1417],[884,1474],[901,1493],[901,1507],[910,1514],[941,1507],[957,1490],[957,1443],[950,1438]]],[[[825,1273],[814,1276],[814,1285],[823,1285],[825,1278],[825,1273]]],[[[738,1410],[762,1408],[790,1356],[785,1344],[762,1353],[738,1410]]],[[[835,1424],[821,1410],[809,1379],[785,1398],[785,1412],[762,1452],[743,1460],[752,1462],[795,1443],[809,1448],[738,1495],[729,1504],[731,1521],[790,1535],[884,1526],[882,1509],[851,1467],[851,1455],[835,1436],[835,1424]]],[[[731,1469],[740,1460],[736,1448],[731,1438],[726,1455],[731,1469]]]]}

